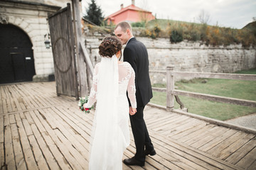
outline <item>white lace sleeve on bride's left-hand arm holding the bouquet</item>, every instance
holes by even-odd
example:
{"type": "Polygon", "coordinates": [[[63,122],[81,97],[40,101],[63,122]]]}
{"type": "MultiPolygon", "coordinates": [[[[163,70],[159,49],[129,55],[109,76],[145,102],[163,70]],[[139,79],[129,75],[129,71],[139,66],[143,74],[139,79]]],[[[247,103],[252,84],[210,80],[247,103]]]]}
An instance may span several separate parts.
{"type": "Polygon", "coordinates": [[[95,65],[95,69],[92,76],[92,89],[90,90],[90,96],[88,98],[88,102],[85,104],[85,108],[91,108],[92,105],[97,100],[97,77],[99,71],[99,64],[95,65]]]}

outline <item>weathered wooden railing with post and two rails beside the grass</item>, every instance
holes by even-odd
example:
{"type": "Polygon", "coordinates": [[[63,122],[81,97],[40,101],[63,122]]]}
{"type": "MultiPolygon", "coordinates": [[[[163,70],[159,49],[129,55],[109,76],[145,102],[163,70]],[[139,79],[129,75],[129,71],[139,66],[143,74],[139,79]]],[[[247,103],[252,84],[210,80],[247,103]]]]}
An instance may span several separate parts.
{"type": "MultiPolygon", "coordinates": [[[[174,77],[193,78],[210,78],[210,79],[237,79],[256,81],[255,74],[224,74],[224,73],[201,73],[201,72],[174,72],[174,66],[166,67],[166,71],[150,71],[154,74],[166,74],[166,89],[165,88],[152,88],[154,91],[166,92],[166,111],[174,110],[174,98],[180,104],[180,108],[184,108],[183,103],[179,100],[178,96],[189,96],[193,98],[201,98],[208,101],[218,101],[222,103],[231,103],[241,106],[256,107],[256,101],[243,100],[238,98],[229,98],[224,96],[215,96],[210,94],[200,94],[190,91],[181,91],[174,89],[174,77]]],[[[255,93],[255,91],[252,91],[255,93]]]]}

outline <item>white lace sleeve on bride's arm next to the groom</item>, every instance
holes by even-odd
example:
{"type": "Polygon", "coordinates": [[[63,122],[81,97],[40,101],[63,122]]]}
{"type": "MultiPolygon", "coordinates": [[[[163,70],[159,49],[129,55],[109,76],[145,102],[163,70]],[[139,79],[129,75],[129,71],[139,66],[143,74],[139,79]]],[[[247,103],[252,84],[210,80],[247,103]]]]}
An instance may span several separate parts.
{"type": "Polygon", "coordinates": [[[135,73],[134,73],[134,69],[132,69],[132,67],[130,67],[129,69],[131,69],[131,77],[129,79],[129,83],[127,86],[127,91],[128,91],[128,97],[129,97],[129,101],[132,105],[132,108],[137,108],[137,101],[136,101],[136,96],[135,96],[135,92],[136,92],[136,87],[135,87],[135,73]]]}

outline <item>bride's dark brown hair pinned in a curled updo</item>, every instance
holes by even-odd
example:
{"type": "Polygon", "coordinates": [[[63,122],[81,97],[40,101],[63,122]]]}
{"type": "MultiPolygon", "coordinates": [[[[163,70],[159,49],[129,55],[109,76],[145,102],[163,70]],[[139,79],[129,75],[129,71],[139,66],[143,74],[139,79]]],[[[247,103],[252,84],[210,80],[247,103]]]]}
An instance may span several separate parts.
{"type": "MultiPolygon", "coordinates": [[[[121,50],[122,57],[122,42],[116,37],[106,37],[102,40],[99,46],[99,54],[102,57],[112,57],[121,50]]],[[[119,57],[119,60],[121,60],[119,57]]]]}

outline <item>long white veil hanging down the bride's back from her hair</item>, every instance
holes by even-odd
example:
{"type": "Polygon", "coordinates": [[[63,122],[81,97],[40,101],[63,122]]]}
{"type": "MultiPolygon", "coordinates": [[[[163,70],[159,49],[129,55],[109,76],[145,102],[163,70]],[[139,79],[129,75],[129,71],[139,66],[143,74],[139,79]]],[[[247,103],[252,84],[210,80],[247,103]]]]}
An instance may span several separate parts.
{"type": "Polygon", "coordinates": [[[89,169],[122,169],[122,142],[117,125],[118,62],[102,57],[97,82],[97,107],[92,125],[89,169]],[[121,159],[119,159],[121,158],[121,159]]]}

